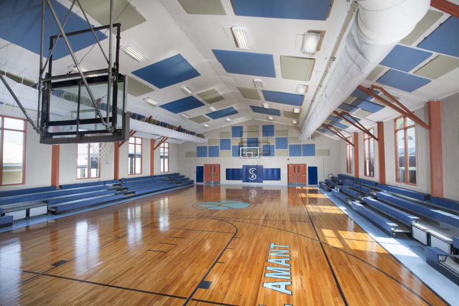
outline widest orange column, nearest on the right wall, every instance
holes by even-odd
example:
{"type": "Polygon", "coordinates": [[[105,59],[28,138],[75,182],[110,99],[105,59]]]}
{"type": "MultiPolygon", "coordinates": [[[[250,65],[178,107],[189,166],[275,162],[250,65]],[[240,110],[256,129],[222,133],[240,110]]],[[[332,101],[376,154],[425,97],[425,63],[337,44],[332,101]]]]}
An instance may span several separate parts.
{"type": "Polygon", "coordinates": [[[429,108],[429,151],[430,151],[430,194],[443,197],[443,138],[442,108],[440,101],[428,101],[429,108]]]}

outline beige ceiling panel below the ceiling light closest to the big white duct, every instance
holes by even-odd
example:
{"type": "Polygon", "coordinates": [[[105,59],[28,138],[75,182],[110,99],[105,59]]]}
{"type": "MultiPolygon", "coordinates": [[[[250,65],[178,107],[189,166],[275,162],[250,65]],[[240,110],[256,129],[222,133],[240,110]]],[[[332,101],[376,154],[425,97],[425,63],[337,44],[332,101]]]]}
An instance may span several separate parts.
{"type": "Polygon", "coordinates": [[[309,81],[314,69],[315,59],[281,55],[283,79],[309,81]]]}

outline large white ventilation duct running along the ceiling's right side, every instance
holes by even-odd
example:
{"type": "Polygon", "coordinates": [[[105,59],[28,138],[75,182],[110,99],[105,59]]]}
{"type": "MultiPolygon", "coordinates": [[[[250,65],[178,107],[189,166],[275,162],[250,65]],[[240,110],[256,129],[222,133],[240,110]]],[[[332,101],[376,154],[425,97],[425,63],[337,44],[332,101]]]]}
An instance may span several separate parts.
{"type": "Polygon", "coordinates": [[[430,0],[360,0],[328,84],[307,114],[300,139],[317,130],[392,48],[424,17],[430,0]]]}

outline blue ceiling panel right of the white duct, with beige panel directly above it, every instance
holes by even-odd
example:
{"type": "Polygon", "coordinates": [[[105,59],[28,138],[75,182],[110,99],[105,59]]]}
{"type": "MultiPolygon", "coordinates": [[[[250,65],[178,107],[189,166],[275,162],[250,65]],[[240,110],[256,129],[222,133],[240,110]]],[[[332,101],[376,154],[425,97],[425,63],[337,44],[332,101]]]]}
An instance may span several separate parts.
{"type": "Polygon", "coordinates": [[[431,55],[430,52],[396,45],[379,64],[409,72],[431,55]]]}

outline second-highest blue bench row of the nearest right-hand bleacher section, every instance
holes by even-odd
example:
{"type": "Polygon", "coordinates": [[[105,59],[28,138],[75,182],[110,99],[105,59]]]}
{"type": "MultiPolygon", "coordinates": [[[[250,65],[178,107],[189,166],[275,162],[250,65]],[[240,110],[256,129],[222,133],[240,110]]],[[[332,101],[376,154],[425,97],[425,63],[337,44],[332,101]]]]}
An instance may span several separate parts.
{"type": "Polygon", "coordinates": [[[432,209],[419,203],[415,203],[406,199],[402,199],[396,197],[394,195],[384,193],[384,192],[376,192],[376,196],[380,199],[386,200],[391,202],[395,205],[398,205],[404,209],[410,210],[422,216],[428,217],[430,219],[434,219],[437,221],[441,221],[452,226],[459,227],[459,217],[441,210],[432,209]]]}

